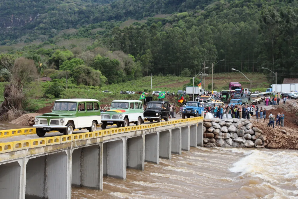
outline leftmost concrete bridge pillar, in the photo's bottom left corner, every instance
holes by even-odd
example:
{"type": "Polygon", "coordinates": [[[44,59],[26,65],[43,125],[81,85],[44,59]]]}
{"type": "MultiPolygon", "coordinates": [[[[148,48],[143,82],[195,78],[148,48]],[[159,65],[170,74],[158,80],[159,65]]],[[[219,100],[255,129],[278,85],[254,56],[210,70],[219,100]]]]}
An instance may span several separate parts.
{"type": "Polygon", "coordinates": [[[0,165],[0,199],[20,198],[21,165],[12,162],[0,165]]]}

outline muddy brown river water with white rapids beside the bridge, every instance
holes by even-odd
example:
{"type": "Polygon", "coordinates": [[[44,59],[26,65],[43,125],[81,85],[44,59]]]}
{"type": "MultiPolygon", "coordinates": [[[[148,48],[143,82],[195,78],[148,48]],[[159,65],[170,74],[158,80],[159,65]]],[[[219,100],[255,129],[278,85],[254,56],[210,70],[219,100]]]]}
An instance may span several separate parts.
{"type": "Polygon", "coordinates": [[[293,198],[298,199],[298,151],[191,148],[127,179],[103,179],[103,191],[72,188],[72,199],[293,198]]]}

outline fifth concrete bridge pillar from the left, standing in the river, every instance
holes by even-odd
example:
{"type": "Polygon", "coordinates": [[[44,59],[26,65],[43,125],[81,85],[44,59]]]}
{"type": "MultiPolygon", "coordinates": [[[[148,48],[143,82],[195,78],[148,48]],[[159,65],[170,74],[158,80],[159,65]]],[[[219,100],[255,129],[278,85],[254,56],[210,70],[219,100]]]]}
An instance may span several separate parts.
{"type": "Polygon", "coordinates": [[[127,167],[145,170],[145,139],[144,135],[127,139],[127,167]]]}

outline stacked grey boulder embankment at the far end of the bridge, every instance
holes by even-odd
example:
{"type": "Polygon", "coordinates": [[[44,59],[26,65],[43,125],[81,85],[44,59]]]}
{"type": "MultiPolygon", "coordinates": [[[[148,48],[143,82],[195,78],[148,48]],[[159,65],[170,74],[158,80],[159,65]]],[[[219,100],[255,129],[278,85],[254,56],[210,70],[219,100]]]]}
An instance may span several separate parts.
{"type": "Polygon", "coordinates": [[[205,147],[274,148],[275,144],[246,119],[205,119],[203,130],[205,147]]]}

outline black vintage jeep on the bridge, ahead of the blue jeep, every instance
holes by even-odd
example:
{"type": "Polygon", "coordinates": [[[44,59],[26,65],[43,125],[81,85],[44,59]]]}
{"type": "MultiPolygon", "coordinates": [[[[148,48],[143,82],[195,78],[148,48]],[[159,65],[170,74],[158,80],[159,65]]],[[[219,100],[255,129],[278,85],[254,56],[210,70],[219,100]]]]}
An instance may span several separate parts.
{"type": "Polygon", "coordinates": [[[168,101],[150,101],[144,110],[145,119],[150,122],[161,122],[162,119],[169,121],[170,103],[168,101]]]}

